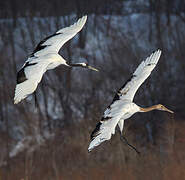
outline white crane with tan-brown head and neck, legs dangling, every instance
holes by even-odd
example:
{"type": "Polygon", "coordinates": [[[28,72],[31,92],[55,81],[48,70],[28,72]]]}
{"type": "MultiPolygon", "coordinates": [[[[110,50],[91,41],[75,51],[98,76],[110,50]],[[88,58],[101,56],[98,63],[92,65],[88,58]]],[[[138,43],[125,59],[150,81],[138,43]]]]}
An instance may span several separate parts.
{"type": "Polygon", "coordinates": [[[173,113],[173,111],[161,104],[142,108],[133,102],[136,91],[151,74],[160,56],[161,50],[157,50],[147,57],[145,61],[142,61],[131,78],[117,91],[112,103],[108,106],[101,121],[96,125],[96,128],[91,134],[91,142],[88,148],[89,152],[102,142],[111,139],[112,134],[115,134],[117,125],[120,129],[121,140],[124,140],[138,152],[137,149],[130,145],[127,139],[122,135],[124,120],[128,119],[136,112],[148,112],[154,109],[173,113]]]}

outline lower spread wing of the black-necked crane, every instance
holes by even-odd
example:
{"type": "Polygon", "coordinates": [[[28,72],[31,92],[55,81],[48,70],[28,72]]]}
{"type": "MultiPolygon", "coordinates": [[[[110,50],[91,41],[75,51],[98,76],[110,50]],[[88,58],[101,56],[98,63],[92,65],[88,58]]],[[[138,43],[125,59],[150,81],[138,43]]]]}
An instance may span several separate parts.
{"type": "Polygon", "coordinates": [[[14,104],[19,103],[29,94],[33,93],[45,73],[49,61],[40,58],[29,58],[17,73],[17,85],[15,88],[14,104]]]}

